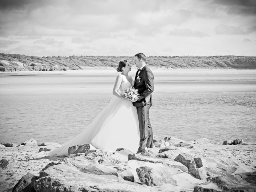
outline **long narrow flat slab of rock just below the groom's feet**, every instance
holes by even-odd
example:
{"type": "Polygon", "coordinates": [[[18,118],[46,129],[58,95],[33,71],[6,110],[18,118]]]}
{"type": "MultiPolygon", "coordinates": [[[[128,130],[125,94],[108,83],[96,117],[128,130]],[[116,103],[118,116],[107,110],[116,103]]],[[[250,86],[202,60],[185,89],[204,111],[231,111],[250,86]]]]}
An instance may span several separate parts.
{"type": "Polygon", "coordinates": [[[182,165],[180,162],[172,161],[169,159],[158,158],[158,157],[148,157],[142,156],[140,154],[129,154],[128,160],[137,160],[137,161],[144,161],[144,162],[151,162],[151,163],[161,163],[165,167],[170,168],[178,168],[182,171],[188,171],[186,166],[182,165]]]}

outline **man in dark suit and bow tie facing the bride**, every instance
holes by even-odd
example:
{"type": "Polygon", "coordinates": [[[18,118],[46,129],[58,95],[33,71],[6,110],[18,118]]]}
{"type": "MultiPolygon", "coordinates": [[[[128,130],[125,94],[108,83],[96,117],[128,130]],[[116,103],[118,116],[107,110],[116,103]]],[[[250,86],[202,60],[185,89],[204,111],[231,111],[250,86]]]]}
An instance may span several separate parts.
{"type": "Polygon", "coordinates": [[[149,109],[152,105],[151,93],[154,91],[154,75],[146,66],[146,56],[138,53],[134,56],[138,71],[135,75],[134,88],[138,89],[139,98],[132,104],[137,108],[140,128],[140,146],[137,153],[142,152],[146,147],[152,148],[153,132],[149,120],[149,109]]]}

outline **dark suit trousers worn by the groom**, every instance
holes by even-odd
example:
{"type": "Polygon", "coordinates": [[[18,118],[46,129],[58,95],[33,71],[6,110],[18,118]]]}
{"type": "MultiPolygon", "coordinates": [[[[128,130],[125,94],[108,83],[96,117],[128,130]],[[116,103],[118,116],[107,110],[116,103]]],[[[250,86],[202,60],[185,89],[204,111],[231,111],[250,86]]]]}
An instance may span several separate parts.
{"type": "Polygon", "coordinates": [[[146,147],[152,148],[153,144],[153,131],[149,119],[149,109],[151,101],[149,100],[146,106],[137,107],[137,114],[140,128],[140,146],[138,153],[142,152],[146,147]]]}

